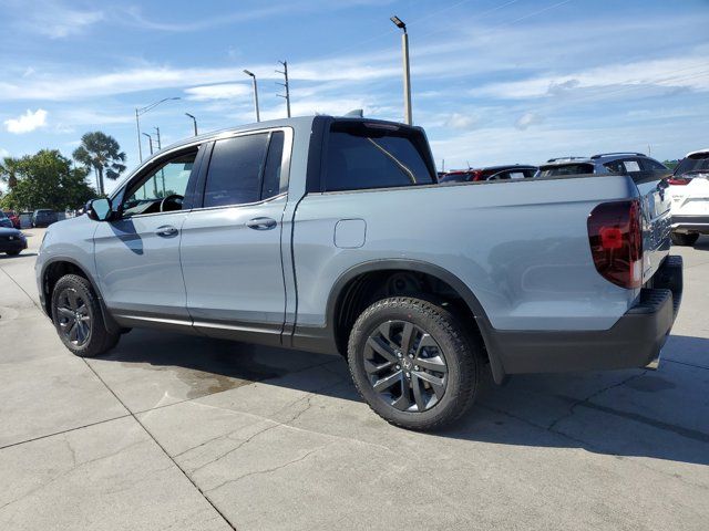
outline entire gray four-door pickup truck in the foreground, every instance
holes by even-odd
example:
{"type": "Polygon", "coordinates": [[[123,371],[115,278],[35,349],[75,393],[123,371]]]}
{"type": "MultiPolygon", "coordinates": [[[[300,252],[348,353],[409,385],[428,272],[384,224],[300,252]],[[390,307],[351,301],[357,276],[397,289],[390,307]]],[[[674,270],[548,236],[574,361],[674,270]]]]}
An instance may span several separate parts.
{"type": "Polygon", "coordinates": [[[263,122],[50,227],[37,281],[80,356],[134,326],[340,353],[376,413],[433,429],[484,371],[657,363],[682,290],[662,177],[439,185],[419,127],[263,122]]]}

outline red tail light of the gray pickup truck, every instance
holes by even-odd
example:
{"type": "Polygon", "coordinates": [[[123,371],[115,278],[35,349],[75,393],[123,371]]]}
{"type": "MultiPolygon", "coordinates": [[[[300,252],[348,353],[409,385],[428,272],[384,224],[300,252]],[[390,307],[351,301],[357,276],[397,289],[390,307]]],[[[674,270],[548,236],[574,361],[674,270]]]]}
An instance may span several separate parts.
{"type": "Polygon", "coordinates": [[[603,202],[588,216],[588,241],[596,270],[621,288],[643,285],[640,202],[603,202]]]}

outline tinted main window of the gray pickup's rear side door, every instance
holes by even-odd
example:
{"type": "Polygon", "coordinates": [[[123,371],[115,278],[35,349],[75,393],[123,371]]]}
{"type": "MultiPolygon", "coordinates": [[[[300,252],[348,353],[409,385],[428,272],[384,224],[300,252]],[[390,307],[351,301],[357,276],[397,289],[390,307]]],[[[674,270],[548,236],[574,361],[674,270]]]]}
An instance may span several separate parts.
{"type": "Polygon", "coordinates": [[[204,206],[258,201],[267,146],[267,133],[215,142],[204,190],[204,206]]]}

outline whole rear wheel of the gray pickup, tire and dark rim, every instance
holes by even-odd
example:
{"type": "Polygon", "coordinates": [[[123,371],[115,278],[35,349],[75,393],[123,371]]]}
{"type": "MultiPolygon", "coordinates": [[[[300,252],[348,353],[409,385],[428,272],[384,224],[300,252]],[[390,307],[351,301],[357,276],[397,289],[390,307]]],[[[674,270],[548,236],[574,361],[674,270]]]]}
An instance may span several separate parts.
{"type": "Polygon", "coordinates": [[[446,309],[397,296],[369,306],[352,327],[348,363],[360,396],[384,420],[433,430],[475,399],[481,356],[446,309]]]}

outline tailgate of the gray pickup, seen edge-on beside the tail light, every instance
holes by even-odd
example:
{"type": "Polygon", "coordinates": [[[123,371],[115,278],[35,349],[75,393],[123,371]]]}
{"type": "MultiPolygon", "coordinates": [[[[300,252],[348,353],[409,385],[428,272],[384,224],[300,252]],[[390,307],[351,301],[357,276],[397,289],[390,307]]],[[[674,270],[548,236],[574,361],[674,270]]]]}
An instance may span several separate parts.
{"type": "Polygon", "coordinates": [[[643,282],[657,272],[670,246],[671,197],[664,171],[630,175],[640,194],[643,209],[643,282]]]}

